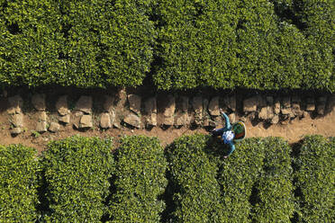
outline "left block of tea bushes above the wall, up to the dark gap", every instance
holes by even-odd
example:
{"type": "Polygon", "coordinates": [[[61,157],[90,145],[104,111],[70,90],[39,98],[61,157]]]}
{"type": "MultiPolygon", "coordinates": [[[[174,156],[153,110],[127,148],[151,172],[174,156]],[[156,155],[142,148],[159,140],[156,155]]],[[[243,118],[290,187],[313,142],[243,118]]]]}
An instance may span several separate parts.
{"type": "Polygon", "coordinates": [[[150,1],[0,1],[1,85],[140,85],[149,71],[150,1]]]}

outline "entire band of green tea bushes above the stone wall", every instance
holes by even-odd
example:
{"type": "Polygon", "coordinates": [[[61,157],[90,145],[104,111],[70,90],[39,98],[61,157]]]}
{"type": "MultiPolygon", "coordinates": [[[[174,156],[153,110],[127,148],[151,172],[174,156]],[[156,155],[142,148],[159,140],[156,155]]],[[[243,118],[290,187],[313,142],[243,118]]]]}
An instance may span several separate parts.
{"type": "Polygon", "coordinates": [[[0,86],[335,91],[333,0],[2,0],[0,12],[0,86]]]}

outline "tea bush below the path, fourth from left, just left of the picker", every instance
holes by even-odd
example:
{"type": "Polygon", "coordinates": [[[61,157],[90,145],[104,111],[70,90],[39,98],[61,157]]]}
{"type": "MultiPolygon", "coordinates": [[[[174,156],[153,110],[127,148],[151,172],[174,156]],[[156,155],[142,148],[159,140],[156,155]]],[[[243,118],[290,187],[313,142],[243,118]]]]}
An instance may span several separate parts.
{"type": "Polygon", "coordinates": [[[218,166],[205,153],[207,142],[204,135],[185,136],[168,147],[176,206],[172,222],[222,222],[218,166]]]}

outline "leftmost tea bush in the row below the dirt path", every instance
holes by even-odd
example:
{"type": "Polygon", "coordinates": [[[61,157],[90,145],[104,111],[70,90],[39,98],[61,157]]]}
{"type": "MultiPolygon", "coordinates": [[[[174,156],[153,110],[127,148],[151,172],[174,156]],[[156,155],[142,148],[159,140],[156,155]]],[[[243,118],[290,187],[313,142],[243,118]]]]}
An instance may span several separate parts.
{"type": "Polygon", "coordinates": [[[0,222],[35,222],[38,204],[36,150],[0,146],[0,222]]]}

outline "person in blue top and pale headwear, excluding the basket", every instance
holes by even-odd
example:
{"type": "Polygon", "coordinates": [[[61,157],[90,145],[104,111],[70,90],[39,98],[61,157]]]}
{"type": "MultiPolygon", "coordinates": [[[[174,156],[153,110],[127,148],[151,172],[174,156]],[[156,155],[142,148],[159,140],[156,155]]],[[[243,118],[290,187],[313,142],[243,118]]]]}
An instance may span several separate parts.
{"type": "Polygon", "coordinates": [[[222,137],[222,141],[224,144],[228,144],[230,146],[230,151],[228,152],[227,156],[223,156],[224,158],[227,158],[231,155],[231,153],[235,150],[233,139],[235,138],[234,132],[231,130],[231,121],[229,120],[226,113],[222,112],[220,109],[220,112],[222,114],[222,117],[224,118],[224,127],[222,129],[213,129],[212,136],[213,137],[222,137]]]}

